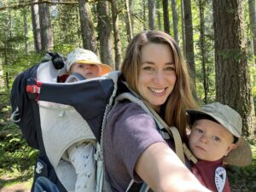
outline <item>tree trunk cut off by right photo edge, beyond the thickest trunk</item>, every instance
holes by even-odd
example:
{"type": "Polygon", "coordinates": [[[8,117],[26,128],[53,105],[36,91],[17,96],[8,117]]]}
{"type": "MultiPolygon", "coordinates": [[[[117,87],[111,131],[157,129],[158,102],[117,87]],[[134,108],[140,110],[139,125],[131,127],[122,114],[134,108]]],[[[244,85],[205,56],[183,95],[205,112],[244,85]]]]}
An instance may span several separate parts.
{"type": "Polygon", "coordinates": [[[250,17],[250,26],[252,31],[253,38],[253,55],[254,55],[254,63],[256,64],[256,3],[255,0],[248,0],[249,6],[249,17],[250,17]]]}

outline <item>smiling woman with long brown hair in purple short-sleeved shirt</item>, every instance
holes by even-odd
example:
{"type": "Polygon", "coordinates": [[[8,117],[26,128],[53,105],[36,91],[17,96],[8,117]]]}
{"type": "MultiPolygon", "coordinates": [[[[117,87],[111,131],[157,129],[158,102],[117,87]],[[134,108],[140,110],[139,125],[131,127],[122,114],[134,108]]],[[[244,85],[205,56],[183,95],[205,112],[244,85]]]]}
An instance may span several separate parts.
{"type": "MultiPolygon", "coordinates": [[[[128,45],[121,73],[131,90],[186,139],[185,110],[195,108],[195,101],[177,43],[165,32],[138,34],[128,45]]],[[[108,115],[103,152],[113,191],[125,191],[131,179],[154,191],[209,191],[166,144],[154,119],[134,102],[120,102],[108,115]]]]}

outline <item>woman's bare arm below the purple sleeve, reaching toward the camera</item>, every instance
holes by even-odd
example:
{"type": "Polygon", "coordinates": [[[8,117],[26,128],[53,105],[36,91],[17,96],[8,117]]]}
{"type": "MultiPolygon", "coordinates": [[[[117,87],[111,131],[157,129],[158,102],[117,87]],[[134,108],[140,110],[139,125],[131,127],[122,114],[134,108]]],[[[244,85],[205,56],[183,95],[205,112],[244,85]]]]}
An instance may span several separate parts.
{"type": "Polygon", "coordinates": [[[137,160],[135,171],[155,192],[210,192],[166,143],[150,145],[137,160]]]}

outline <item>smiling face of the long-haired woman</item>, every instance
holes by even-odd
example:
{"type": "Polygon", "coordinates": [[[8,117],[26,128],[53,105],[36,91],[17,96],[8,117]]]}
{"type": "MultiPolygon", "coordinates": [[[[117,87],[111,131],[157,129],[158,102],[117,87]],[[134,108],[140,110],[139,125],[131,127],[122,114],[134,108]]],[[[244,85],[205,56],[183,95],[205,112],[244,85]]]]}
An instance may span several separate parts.
{"type": "Polygon", "coordinates": [[[166,44],[146,44],[142,48],[138,91],[156,111],[172,93],[176,83],[172,50],[166,44]]]}

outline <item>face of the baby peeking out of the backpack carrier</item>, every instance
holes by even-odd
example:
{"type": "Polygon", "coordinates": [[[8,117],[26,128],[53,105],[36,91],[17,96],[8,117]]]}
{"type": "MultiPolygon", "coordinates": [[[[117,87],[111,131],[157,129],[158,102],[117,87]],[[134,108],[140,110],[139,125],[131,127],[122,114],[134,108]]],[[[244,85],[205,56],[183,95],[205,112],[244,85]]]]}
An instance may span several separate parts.
{"type": "Polygon", "coordinates": [[[79,73],[84,79],[91,79],[100,76],[100,67],[94,64],[74,63],[70,72],[79,73]]]}

